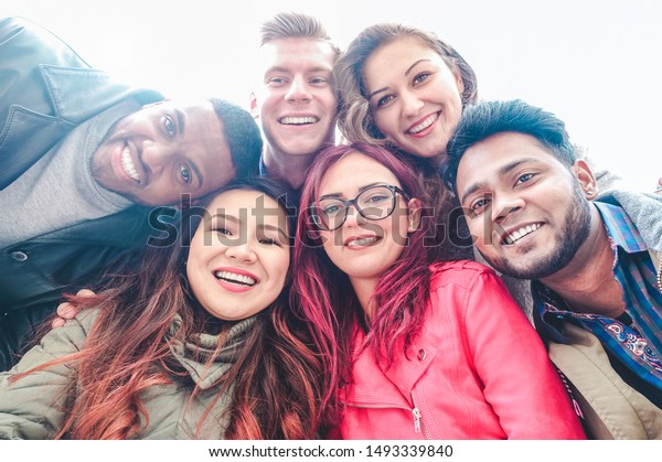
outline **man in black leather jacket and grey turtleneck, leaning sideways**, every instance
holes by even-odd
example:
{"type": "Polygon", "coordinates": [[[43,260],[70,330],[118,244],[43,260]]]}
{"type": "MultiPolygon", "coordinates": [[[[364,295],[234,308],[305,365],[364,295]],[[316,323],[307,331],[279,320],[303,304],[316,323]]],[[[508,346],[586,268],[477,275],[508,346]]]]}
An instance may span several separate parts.
{"type": "Polygon", "coordinates": [[[113,82],[21,18],[0,19],[0,369],[66,288],[143,247],[152,207],[257,172],[259,129],[222,99],[113,82]]]}

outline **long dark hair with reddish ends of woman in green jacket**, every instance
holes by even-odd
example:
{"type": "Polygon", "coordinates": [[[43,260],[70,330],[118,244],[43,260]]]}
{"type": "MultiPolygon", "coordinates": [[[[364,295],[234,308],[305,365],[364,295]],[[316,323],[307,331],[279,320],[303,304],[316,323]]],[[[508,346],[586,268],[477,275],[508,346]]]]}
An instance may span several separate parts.
{"type": "MultiPolygon", "coordinates": [[[[290,234],[293,233],[296,214],[286,203],[292,195],[286,194],[281,185],[258,179],[232,184],[224,191],[231,189],[256,190],[277,200],[288,212],[290,234]]],[[[70,298],[79,308],[100,310],[78,353],[40,367],[64,363],[72,365],[77,375],[73,405],[57,438],[135,438],[141,430],[141,419],[149,421],[150,417],[140,399],[142,391],[181,377],[184,386],[193,388],[192,397],[199,393],[197,386],[188,380],[186,373],[173,361],[170,343],[209,332],[212,325],[222,339],[235,323],[210,319],[189,294],[184,262],[200,222],[195,211],[200,208],[184,213],[177,243],[149,248],[139,270],[116,276],[107,289],[92,299],[70,298]],[[182,324],[169,336],[175,315],[182,319],[182,324]]],[[[280,297],[256,315],[236,362],[217,382],[216,399],[199,422],[199,433],[214,405],[232,388],[232,402],[226,410],[229,425],[224,432],[220,429],[220,437],[310,439],[316,436],[321,362],[311,347],[306,325],[290,310],[289,281],[291,275],[280,297]]],[[[218,342],[209,365],[223,346],[218,342]]]]}

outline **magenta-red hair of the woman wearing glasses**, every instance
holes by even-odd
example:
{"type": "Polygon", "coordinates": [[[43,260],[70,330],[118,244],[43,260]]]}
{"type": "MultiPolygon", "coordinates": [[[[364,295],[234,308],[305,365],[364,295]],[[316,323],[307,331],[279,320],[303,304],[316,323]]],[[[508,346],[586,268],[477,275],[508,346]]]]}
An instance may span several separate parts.
{"type": "MultiPolygon", "coordinates": [[[[366,347],[376,357],[391,365],[418,335],[429,299],[433,258],[437,259],[430,243],[434,240],[436,219],[430,196],[426,193],[424,176],[406,157],[398,157],[385,148],[355,143],[324,150],[311,165],[303,190],[295,244],[292,265],[296,268],[292,286],[292,307],[300,309],[301,319],[309,320],[312,335],[324,361],[324,404],[333,422],[339,416],[338,390],[343,382],[352,380],[353,337],[356,326],[366,325],[359,300],[345,273],[338,269],[324,253],[319,232],[313,224],[309,204],[319,196],[324,173],[344,155],[359,151],[391,170],[409,197],[423,203],[420,226],[408,236],[408,245],[381,277],[373,299],[376,311],[367,330],[366,347]]],[[[366,172],[370,176],[370,172],[366,172]]]]}

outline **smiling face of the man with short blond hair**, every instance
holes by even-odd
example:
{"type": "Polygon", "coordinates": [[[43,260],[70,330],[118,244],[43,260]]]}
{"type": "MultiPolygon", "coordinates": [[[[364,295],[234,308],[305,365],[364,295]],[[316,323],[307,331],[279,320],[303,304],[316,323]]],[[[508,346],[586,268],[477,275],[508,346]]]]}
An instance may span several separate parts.
{"type": "Polygon", "coordinates": [[[288,37],[261,46],[264,87],[257,93],[267,151],[309,155],[333,143],[338,97],[328,42],[288,37]]]}

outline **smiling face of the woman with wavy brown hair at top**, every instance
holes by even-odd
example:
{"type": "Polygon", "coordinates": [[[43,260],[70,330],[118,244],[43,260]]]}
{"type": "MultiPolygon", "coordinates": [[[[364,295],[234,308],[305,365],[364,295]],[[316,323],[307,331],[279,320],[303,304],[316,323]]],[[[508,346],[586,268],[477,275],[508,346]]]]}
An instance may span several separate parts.
{"type": "Polygon", "coordinates": [[[462,114],[462,80],[419,39],[402,36],[366,61],[363,82],[375,125],[404,151],[430,158],[446,146],[462,114]]]}

